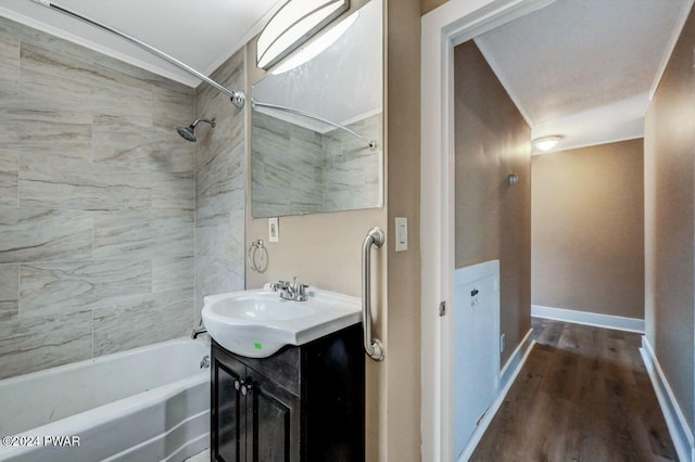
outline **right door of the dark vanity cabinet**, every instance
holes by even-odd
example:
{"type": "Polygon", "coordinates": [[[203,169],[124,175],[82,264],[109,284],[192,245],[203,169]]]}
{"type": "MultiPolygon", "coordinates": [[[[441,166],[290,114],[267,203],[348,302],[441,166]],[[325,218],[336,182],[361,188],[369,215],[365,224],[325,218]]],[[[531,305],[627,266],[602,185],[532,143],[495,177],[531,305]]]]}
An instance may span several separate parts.
{"type": "Polygon", "coordinates": [[[300,399],[248,369],[247,453],[253,462],[300,461],[300,399]]]}

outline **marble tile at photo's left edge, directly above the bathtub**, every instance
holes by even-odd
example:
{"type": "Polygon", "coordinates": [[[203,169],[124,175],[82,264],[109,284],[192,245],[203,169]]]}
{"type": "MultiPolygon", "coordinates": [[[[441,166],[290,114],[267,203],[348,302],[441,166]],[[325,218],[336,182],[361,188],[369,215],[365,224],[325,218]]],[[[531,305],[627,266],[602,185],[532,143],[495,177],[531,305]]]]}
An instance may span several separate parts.
{"type": "Polygon", "coordinates": [[[0,321],[0,378],[91,358],[92,313],[0,321]]]}

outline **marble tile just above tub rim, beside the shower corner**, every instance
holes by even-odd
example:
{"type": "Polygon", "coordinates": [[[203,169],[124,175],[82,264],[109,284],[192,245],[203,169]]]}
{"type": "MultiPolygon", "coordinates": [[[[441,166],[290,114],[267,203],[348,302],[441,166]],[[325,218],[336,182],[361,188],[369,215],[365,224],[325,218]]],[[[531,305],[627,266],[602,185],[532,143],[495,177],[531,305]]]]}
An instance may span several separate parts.
{"type": "Polygon", "coordinates": [[[96,311],[94,356],[189,335],[193,326],[191,306],[188,291],[175,291],[139,305],[96,311]]]}

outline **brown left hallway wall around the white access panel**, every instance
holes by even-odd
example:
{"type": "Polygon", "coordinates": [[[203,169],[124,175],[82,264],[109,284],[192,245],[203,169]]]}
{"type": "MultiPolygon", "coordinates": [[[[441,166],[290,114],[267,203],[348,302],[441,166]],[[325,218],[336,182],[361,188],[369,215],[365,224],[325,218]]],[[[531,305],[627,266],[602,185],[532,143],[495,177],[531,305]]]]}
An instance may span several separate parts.
{"type": "Polygon", "coordinates": [[[454,60],[456,268],[500,260],[504,364],[531,328],[531,129],[475,42],[454,60]]]}

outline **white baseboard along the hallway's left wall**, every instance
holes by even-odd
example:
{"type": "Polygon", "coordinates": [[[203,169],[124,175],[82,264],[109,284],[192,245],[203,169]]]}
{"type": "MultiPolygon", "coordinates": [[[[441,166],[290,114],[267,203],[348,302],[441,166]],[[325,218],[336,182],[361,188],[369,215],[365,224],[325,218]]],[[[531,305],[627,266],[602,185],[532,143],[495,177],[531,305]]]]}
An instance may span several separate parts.
{"type": "Polygon", "coordinates": [[[497,398],[490,406],[490,408],[485,412],[485,415],[480,421],[480,424],[470,436],[470,439],[468,440],[464,452],[462,452],[460,457],[458,458],[458,462],[466,462],[468,461],[468,459],[470,459],[473,451],[478,447],[480,439],[485,434],[488,426],[492,422],[492,419],[495,416],[495,414],[500,410],[500,407],[504,402],[504,398],[507,396],[507,393],[509,393],[509,388],[511,388],[514,381],[519,375],[519,372],[521,372],[523,363],[531,354],[533,345],[535,345],[535,341],[531,341],[532,332],[533,329],[530,329],[529,332],[527,332],[523,339],[519,343],[519,346],[517,346],[517,348],[507,360],[507,363],[500,372],[500,388],[497,388],[497,398]]]}

